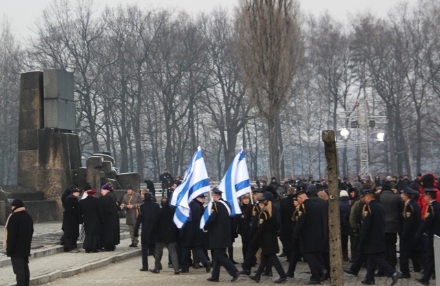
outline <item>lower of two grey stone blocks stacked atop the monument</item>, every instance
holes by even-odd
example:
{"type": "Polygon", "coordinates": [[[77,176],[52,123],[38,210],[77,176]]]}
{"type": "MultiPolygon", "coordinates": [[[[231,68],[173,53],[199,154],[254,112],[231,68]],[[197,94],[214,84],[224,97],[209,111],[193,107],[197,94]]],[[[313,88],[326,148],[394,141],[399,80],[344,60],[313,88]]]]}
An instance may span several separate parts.
{"type": "Polygon", "coordinates": [[[45,98],[44,100],[44,126],[63,130],[75,130],[75,102],[45,98]]]}

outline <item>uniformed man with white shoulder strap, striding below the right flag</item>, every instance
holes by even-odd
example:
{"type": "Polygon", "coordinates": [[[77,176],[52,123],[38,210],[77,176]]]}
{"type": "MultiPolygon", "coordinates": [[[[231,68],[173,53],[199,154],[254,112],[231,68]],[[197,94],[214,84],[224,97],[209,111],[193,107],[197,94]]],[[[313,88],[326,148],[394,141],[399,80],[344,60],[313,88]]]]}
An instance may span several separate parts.
{"type": "Polygon", "coordinates": [[[210,216],[203,226],[203,232],[209,232],[209,244],[212,250],[212,274],[208,278],[210,282],[218,282],[220,276],[220,266],[225,267],[226,271],[232,276],[231,282],[239,278],[239,270],[226,255],[226,248],[232,246],[231,238],[231,207],[227,201],[221,199],[221,190],[212,190],[212,208],[210,216]]]}

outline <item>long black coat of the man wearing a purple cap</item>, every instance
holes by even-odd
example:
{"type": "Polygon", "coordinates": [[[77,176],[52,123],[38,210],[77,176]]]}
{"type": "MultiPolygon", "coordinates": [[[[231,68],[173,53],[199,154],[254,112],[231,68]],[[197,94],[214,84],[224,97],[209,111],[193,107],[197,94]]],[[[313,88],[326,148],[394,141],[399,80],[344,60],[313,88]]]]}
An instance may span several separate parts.
{"type": "Polygon", "coordinates": [[[119,212],[113,192],[99,197],[104,211],[104,225],[101,234],[102,248],[112,248],[120,242],[119,212]]]}

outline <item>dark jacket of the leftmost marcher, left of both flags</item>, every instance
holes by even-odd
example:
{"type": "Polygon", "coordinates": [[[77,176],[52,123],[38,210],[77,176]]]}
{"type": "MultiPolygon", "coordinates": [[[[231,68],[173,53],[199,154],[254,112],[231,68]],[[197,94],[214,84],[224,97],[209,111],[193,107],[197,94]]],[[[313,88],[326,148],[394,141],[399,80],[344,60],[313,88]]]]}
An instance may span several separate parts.
{"type": "Polygon", "coordinates": [[[137,236],[139,233],[139,227],[142,223],[142,232],[140,234],[140,242],[142,245],[155,242],[154,233],[150,232],[150,228],[153,225],[154,217],[159,209],[159,205],[153,201],[144,201],[144,203],[138,206],[139,214],[137,214],[134,232],[135,236],[137,236]]]}

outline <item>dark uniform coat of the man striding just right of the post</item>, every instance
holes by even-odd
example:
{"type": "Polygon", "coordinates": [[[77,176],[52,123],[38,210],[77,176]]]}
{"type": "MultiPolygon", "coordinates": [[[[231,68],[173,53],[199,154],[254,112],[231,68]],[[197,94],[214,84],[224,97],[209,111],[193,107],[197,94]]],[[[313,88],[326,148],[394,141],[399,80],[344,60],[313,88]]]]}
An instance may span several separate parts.
{"type": "Polygon", "coordinates": [[[375,199],[362,209],[360,243],[365,254],[385,252],[385,210],[375,199]]]}

